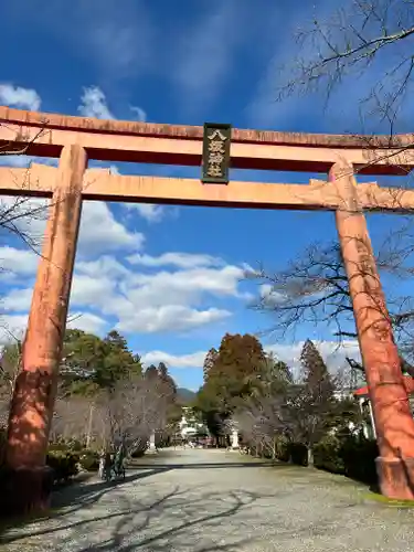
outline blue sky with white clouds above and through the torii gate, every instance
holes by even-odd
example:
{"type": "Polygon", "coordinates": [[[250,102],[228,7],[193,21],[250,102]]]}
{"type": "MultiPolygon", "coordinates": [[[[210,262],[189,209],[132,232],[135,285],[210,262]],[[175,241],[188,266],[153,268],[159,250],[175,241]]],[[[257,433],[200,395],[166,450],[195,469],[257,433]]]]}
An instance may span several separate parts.
{"type": "MultiPolygon", "coordinates": [[[[319,2],[321,13],[339,2],[319,2]]],[[[294,31],[309,2],[274,0],[14,0],[0,7],[0,104],[20,108],[241,128],[311,132],[361,130],[358,99],[369,72],[346,83],[326,108],[322,93],[276,102],[278,66],[291,63],[294,31]]],[[[20,162],[8,160],[10,163],[20,162]]],[[[2,160],[6,163],[4,159],[2,160]]],[[[197,177],[198,169],[118,163],[123,173],[197,177]]],[[[232,171],[245,180],[302,182],[309,174],[232,171]]],[[[371,179],[372,180],[372,179],[371,179]]],[[[369,217],[374,246],[396,217],[369,217]]],[[[44,222],[32,223],[42,232],[44,222]]],[[[237,211],[87,203],[71,310],[76,326],[117,327],[145,361],[163,360],[180,385],[202,382],[205,351],[226,332],[258,332],[272,319],[248,309],[257,288],[248,265],[277,269],[311,242],[336,237],[331,213],[237,211]]],[[[36,258],[1,236],[2,315],[24,327],[36,258]]],[[[289,360],[300,341],[335,341],[328,328],[299,329],[266,346],[289,360]]],[[[354,342],[349,343],[352,351],[354,342]]],[[[340,362],[340,357],[337,362],[340,362]]]]}

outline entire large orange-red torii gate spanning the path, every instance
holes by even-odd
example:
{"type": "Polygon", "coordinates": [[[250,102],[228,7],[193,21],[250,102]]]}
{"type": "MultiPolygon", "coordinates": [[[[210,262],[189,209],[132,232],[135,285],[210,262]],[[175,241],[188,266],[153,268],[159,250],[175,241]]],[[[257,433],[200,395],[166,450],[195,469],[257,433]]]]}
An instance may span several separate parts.
{"type": "Polygon", "coordinates": [[[202,127],[97,120],[0,107],[0,151],[60,158],[59,168],[0,168],[2,194],[52,198],[22,368],[9,422],[9,490],[15,508],[47,503],[45,454],[65,331],[83,200],[335,211],[373,406],[382,492],[414,499],[414,421],[364,210],[411,212],[414,191],[357,184],[362,174],[406,174],[412,135],[363,137],[232,130],[231,166],[329,173],[308,185],[114,176],[88,159],[200,166],[202,127]]]}

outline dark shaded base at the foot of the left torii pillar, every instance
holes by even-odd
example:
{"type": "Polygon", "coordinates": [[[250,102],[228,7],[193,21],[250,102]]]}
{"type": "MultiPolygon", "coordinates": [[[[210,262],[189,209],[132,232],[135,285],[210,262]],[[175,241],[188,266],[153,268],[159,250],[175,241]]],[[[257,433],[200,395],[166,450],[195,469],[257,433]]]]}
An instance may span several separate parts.
{"type": "Polygon", "coordinates": [[[53,469],[43,467],[7,468],[0,476],[2,518],[44,512],[50,508],[53,469]]]}

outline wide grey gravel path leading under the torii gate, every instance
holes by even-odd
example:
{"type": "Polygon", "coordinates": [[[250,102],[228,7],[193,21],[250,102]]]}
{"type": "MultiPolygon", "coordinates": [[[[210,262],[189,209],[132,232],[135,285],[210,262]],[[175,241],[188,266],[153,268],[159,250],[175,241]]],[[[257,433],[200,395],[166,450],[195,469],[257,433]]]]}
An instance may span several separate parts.
{"type": "Polygon", "coordinates": [[[222,450],[161,452],[124,484],[55,496],[52,519],[3,534],[1,552],[414,552],[414,510],[365,500],[341,477],[222,450]]]}

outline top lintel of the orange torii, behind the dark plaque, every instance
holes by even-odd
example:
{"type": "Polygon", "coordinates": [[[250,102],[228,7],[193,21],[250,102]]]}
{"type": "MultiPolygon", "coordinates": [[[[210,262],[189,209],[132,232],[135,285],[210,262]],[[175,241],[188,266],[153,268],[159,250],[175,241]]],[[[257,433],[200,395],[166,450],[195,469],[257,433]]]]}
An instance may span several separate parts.
{"type": "MultiPolygon", "coordinates": [[[[200,166],[203,127],[99,120],[0,106],[0,148],[59,157],[82,145],[89,159],[200,166]],[[13,146],[12,146],[13,145],[13,146]]],[[[339,159],[364,174],[406,174],[414,135],[352,136],[232,130],[231,166],[240,169],[328,172],[339,159]]]]}

